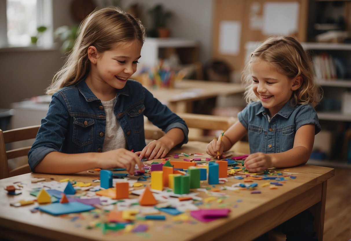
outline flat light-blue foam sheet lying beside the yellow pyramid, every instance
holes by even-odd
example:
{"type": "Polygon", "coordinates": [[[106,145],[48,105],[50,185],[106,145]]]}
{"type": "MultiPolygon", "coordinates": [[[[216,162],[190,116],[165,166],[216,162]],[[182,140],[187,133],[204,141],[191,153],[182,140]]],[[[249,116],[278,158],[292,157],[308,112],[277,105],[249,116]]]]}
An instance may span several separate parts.
{"type": "Polygon", "coordinates": [[[68,202],[68,203],[52,203],[44,206],[40,206],[39,210],[52,215],[61,215],[69,213],[80,213],[95,209],[91,205],[87,205],[80,202],[68,202]]]}

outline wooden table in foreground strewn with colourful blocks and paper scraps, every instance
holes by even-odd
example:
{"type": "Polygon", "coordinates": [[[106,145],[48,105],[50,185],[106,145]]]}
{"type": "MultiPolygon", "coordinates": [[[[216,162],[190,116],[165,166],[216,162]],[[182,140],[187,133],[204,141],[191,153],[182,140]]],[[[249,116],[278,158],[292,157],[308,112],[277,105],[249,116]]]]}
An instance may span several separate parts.
{"type": "MultiPolygon", "coordinates": [[[[206,143],[190,142],[180,150],[172,150],[170,154],[176,152],[196,153],[204,152],[206,143]]],[[[28,189],[31,186],[31,178],[46,177],[47,181],[53,178],[59,181],[66,177],[79,182],[91,182],[99,177],[98,172],[82,172],[75,175],[47,175],[47,174],[24,174],[0,180],[1,187],[11,185],[20,181],[25,187],[22,194],[8,196],[5,190],[0,191],[0,238],[16,240],[140,240],[149,237],[147,240],[252,240],[255,237],[271,230],[278,224],[286,221],[290,217],[310,208],[315,216],[316,231],[319,240],[323,239],[324,208],[326,197],[327,180],[334,175],[334,169],[317,167],[312,165],[300,165],[288,168],[289,172],[297,176],[295,180],[286,181],[278,189],[260,187],[262,183],[269,180],[254,180],[258,183],[258,190],[261,194],[251,194],[250,190],[223,192],[229,198],[223,203],[211,202],[211,208],[223,207],[231,208],[228,217],[216,221],[201,223],[190,217],[189,221],[174,222],[173,216],[166,214],[166,221],[152,221],[147,233],[136,234],[117,233],[102,234],[100,228],[86,229],[86,225],[92,221],[92,215],[84,216],[85,219],[71,221],[71,216],[55,217],[46,213],[31,213],[29,210],[34,205],[23,207],[12,207],[9,203],[21,199],[30,198],[28,189]],[[117,237],[118,236],[118,237],[117,237]]],[[[284,171],[285,169],[277,169],[284,171]]],[[[230,186],[234,183],[244,183],[229,176],[228,183],[218,184],[230,186]]],[[[201,184],[206,187],[207,181],[201,184]]],[[[212,187],[210,185],[209,187],[212,187]]],[[[199,192],[199,197],[209,197],[204,192],[199,192]]],[[[132,198],[134,195],[130,195],[132,198]]],[[[33,197],[32,197],[33,198],[33,197]]],[[[133,197],[134,198],[134,197],[133,197]]],[[[204,207],[204,206],[200,206],[204,207]]],[[[205,207],[206,208],[206,207],[205,207]]],[[[137,221],[143,223],[145,221],[137,221]]]]}

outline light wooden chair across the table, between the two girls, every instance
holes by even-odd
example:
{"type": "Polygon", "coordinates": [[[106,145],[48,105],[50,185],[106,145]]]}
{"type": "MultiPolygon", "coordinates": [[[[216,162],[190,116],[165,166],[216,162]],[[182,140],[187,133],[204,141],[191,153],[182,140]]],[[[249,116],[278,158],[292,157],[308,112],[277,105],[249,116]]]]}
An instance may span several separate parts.
{"type": "MultiPolygon", "coordinates": [[[[193,113],[178,113],[178,116],[184,119],[189,128],[189,141],[203,141],[210,142],[213,136],[205,136],[204,130],[227,130],[231,125],[238,121],[234,117],[200,115],[193,113]]],[[[165,133],[154,126],[151,122],[145,122],[145,139],[159,139],[165,133]]],[[[249,153],[249,143],[239,141],[234,144],[234,151],[241,153],[249,153]]]]}

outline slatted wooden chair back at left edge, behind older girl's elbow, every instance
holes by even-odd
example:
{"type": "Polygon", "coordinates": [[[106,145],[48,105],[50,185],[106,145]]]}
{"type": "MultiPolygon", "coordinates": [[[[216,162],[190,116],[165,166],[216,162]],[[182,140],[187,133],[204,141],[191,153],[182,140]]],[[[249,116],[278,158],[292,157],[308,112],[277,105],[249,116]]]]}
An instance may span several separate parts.
{"type": "Polygon", "coordinates": [[[7,162],[13,158],[27,156],[31,146],[6,151],[5,144],[33,139],[37,135],[39,127],[40,125],[33,125],[7,131],[0,129],[0,179],[31,172],[28,164],[9,170],[7,162]]]}

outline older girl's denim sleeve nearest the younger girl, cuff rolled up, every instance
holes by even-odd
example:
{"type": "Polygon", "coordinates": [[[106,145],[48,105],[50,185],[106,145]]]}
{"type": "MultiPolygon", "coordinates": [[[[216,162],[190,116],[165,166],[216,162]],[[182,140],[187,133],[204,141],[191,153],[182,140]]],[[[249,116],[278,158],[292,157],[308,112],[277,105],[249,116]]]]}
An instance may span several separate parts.
{"type": "Polygon", "coordinates": [[[164,132],[168,132],[173,128],[179,128],[184,133],[184,139],[177,146],[181,146],[188,142],[189,129],[185,121],[176,113],[172,112],[166,105],[162,104],[158,99],[154,98],[152,93],[143,87],[145,93],[145,113],[144,115],[152,122],[152,124],[161,128],[164,132]]]}

